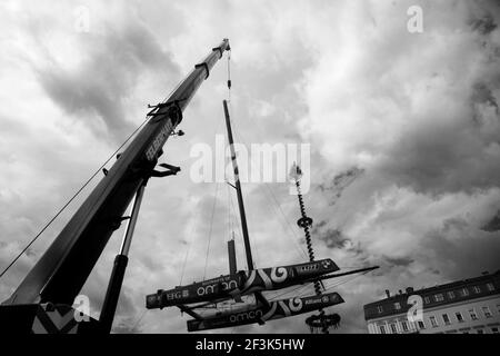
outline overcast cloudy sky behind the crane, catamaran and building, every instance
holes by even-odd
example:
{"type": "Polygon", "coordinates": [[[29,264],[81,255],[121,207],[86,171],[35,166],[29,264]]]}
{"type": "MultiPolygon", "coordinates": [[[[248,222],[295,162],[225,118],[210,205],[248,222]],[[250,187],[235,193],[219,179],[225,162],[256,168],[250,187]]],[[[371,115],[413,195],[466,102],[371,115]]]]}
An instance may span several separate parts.
{"type": "MultiPolygon", "coordinates": [[[[411,22],[412,23],[412,22],[411,22]]],[[[341,327],[367,333],[362,306],[500,268],[498,1],[0,2],[0,268],[222,38],[231,43],[236,140],[309,144],[318,258],[377,271],[328,284],[341,327]],[[411,7],[421,31],[410,31],[411,7]],[[414,8],[413,8],[414,9],[414,8]]],[[[130,251],[116,333],[186,333],[176,309],[144,296],[226,274],[236,197],[194,182],[197,144],[224,135],[226,58],[184,111],[153,179],[130,251]]],[[[112,161],[111,161],[112,164],[112,161]]],[[[108,168],[111,166],[108,165],[108,168]]],[[[98,176],[99,179],[102,175],[98,176]]],[[[7,299],[91,185],[0,279],[7,299]]],[[[289,185],[243,184],[258,267],[307,259],[289,185]]],[[[98,316],[123,228],[82,294],[98,316]]],[[[313,294],[312,288],[301,290],[313,294]]],[[[276,294],[274,294],[276,295],[276,294]]],[[[306,316],[226,333],[308,333],[306,316]]]]}

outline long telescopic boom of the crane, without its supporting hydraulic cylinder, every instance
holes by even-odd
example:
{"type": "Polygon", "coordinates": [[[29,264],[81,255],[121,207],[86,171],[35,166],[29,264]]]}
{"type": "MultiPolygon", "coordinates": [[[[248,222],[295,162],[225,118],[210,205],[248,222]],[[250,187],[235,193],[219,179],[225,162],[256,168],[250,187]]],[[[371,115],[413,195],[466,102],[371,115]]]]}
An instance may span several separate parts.
{"type": "Polygon", "coordinates": [[[164,102],[153,107],[150,120],[4,305],[72,305],[133,196],[151,177],[164,142],[182,120],[183,109],[226,50],[228,39],[196,65],[164,102]]]}

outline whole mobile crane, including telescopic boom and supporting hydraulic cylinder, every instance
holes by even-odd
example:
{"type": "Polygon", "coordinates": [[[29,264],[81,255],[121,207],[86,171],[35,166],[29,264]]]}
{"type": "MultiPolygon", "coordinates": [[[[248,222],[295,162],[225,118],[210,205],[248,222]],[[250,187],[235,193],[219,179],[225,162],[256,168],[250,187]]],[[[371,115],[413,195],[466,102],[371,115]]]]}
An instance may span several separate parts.
{"type": "MultiPolygon", "coordinates": [[[[49,332],[109,333],[118,304],[128,254],[143,191],[150,178],[176,175],[179,167],[159,164],[163,145],[174,135],[201,82],[223,52],[230,50],[228,39],[210,53],[180,82],[163,102],[150,106],[148,121],[130,145],[119,155],[104,177],[78,208],[68,224],[28,273],[13,294],[0,305],[1,327],[9,332],[36,332],[36,326],[50,318],[49,313],[69,313],[111,235],[127,221],[120,254],[114,259],[110,283],[99,320],[68,327],[44,326],[49,332]],[[132,204],[131,216],[126,217],[132,204]]],[[[53,324],[53,323],[52,323],[53,324]]],[[[0,328],[1,328],[0,327],[0,328]]],[[[38,330],[37,329],[37,330],[38,330]]]]}

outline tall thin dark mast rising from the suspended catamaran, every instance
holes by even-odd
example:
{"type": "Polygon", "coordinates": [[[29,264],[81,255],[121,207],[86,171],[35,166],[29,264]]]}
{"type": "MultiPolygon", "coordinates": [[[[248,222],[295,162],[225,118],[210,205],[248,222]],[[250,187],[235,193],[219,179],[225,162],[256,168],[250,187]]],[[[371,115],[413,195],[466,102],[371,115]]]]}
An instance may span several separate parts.
{"type": "Polygon", "coordinates": [[[244,214],[243,195],[241,192],[240,175],[238,171],[238,160],[234,151],[234,141],[232,138],[232,130],[231,130],[231,119],[229,117],[228,102],[223,100],[222,103],[224,107],[226,127],[228,128],[229,147],[231,148],[232,168],[234,170],[234,187],[238,196],[238,207],[240,210],[241,229],[243,231],[244,253],[247,255],[248,270],[252,270],[253,269],[252,250],[250,247],[250,239],[248,237],[247,215],[244,214]]]}

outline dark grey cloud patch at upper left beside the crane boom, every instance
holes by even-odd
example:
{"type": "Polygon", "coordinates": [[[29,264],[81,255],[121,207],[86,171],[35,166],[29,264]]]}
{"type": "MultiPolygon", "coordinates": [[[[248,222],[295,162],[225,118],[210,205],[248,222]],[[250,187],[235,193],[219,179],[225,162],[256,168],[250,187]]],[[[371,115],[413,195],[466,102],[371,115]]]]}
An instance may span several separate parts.
{"type": "Polygon", "coordinates": [[[81,43],[87,53],[79,67],[64,69],[49,57],[49,65],[34,65],[36,73],[47,95],[68,115],[97,135],[121,142],[136,127],[127,100],[139,80],[148,75],[154,81],[168,75],[178,77],[179,70],[153,33],[137,20],[130,19],[121,29],[109,27],[103,34],[87,36],[81,43]]]}

